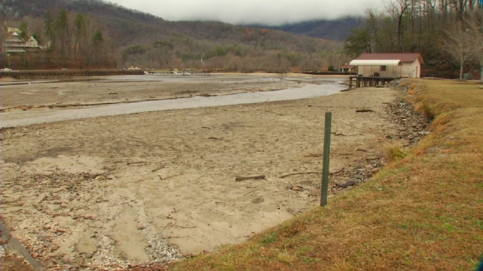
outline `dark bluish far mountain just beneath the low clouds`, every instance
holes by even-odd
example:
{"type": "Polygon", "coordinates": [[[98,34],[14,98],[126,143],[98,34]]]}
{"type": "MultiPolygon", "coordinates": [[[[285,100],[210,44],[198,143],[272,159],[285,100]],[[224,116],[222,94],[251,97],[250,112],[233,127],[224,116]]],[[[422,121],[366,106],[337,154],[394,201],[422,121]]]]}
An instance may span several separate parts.
{"type": "Polygon", "coordinates": [[[345,41],[350,31],[364,23],[361,17],[344,17],[337,20],[302,21],[282,26],[249,25],[251,27],[269,28],[305,35],[325,40],[345,41]]]}

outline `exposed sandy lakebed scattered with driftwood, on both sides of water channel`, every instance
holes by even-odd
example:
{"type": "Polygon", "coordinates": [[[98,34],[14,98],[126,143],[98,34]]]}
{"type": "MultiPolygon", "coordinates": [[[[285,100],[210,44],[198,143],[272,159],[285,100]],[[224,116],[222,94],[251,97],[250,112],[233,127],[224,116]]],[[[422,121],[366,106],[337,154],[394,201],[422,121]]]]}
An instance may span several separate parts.
{"type": "MultiPolygon", "coordinates": [[[[2,86],[0,117],[126,100],[324,87],[328,79],[122,80],[2,86]]],[[[320,175],[280,177],[321,171],[326,111],[333,112],[331,172],[383,159],[386,135],[396,130],[385,103],[395,97],[389,88],[362,88],[3,128],[1,219],[50,269],[113,269],[214,251],[318,205],[320,175]],[[362,108],[374,112],[356,113],[362,108]],[[235,181],[256,175],[266,177],[235,181]]]]}

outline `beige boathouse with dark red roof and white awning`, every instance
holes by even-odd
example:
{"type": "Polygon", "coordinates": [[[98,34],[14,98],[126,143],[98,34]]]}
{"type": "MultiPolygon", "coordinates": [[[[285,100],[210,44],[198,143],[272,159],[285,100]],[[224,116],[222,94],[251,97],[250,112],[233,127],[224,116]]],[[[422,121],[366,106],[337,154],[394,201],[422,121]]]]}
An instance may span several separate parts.
{"type": "Polygon", "coordinates": [[[357,66],[359,76],[388,78],[421,78],[422,64],[420,53],[364,53],[349,63],[357,66]]]}

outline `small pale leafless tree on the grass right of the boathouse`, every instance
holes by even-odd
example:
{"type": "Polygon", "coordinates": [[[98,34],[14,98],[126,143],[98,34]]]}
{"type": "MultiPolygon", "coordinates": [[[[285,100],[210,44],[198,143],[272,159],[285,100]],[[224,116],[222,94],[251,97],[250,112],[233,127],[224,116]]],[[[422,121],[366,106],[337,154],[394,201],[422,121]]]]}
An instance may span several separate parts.
{"type": "Polygon", "coordinates": [[[449,53],[459,64],[459,80],[463,79],[463,66],[474,57],[471,32],[462,22],[455,22],[445,31],[443,50],[449,53]]]}

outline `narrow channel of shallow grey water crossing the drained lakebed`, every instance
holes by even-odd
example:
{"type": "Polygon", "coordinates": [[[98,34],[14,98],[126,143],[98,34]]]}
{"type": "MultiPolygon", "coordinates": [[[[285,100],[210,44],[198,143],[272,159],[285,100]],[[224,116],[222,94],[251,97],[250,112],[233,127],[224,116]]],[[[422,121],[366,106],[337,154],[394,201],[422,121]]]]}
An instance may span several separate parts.
{"type": "Polygon", "coordinates": [[[323,84],[307,84],[301,87],[275,91],[240,93],[225,96],[180,98],[171,100],[145,101],[125,104],[86,106],[78,109],[48,109],[29,114],[25,112],[1,113],[0,126],[15,127],[84,118],[115,116],[140,112],[222,106],[233,104],[254,104],[273,101],[315,98],[338,93],[346,88],[337,79],[324,80],[323,84]]]}

